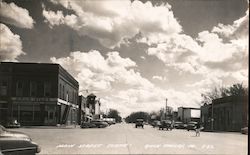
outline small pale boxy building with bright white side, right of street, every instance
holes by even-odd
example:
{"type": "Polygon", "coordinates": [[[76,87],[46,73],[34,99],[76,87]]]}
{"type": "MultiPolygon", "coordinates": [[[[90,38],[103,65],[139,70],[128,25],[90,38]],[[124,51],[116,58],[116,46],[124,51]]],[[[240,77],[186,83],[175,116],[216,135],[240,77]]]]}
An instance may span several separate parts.
{"type": "Polygon", "coordinates": [[[179,107],[178,108],[178,121],[188,123],[190,121],[200,121],[200,109],[191,107],[179,107]]]}

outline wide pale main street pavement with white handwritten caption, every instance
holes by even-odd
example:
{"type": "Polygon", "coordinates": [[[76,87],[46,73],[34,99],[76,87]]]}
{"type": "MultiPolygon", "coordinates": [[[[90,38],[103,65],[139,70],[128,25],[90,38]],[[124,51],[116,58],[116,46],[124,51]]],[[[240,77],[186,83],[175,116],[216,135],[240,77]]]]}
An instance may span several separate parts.
{"type": "Polygon", "coordinates": [[[116,124],[101,129],[36,127],[12,129],[37,142],[40,154],[247,154],[247,135],[240,133],[162,131],[146,125],[116,124]]]}

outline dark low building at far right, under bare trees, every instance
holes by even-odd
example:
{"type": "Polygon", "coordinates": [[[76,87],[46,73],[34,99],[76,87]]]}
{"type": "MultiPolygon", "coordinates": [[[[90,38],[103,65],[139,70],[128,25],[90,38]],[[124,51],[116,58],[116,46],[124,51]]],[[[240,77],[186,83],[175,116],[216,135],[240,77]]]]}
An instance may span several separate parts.
{"type": "Polygon", "coordinates": [[[201,107],[205,130],[240,131],[248,126],[248,119],[248,96],[219,98],[201,107]]]}

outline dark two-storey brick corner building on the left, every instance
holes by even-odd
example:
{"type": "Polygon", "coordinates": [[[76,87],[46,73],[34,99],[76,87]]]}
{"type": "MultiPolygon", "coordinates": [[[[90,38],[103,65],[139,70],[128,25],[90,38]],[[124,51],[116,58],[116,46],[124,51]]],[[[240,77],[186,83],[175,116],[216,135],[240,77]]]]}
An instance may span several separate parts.
{"type": "Polygon", "coordinates": [[[1,124],[71,124],[77,121],[78,82],[59,64],[0,63],[1,124]]]}

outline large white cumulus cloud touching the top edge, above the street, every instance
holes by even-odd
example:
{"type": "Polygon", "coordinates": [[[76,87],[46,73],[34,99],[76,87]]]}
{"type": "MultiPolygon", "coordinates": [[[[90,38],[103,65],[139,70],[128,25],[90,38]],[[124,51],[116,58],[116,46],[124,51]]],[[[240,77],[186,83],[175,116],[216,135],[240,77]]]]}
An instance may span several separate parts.
{"type": "Polygon", "coordinates": [[[154,36],[162,33],[173,35],[182,31],[169,4],[153,6],[151,2],[142,3],[138,0],[52,2],[75,11],[75,15],[63,16],[61,11],[47,11],[44,8],[43,15],[50,26],[68,25],[110,48],[119,46],[139,32],[148,40],[155,40],[157,38],[154,36]]]}

